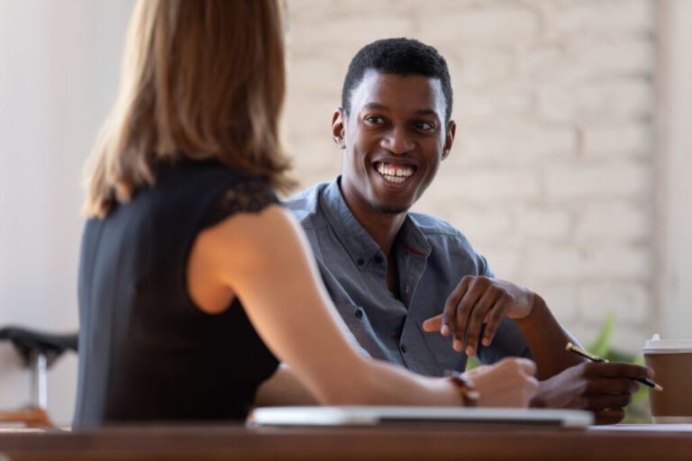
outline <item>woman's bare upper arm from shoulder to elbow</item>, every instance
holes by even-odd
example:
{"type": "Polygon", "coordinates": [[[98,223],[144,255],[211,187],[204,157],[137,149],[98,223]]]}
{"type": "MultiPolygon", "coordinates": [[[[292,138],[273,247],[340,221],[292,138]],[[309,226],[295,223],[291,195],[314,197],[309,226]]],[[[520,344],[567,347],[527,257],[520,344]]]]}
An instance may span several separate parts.
{"type": "MultiPolygon", "coordinates": [[[[271,351],[319,398],[338,392],[364,359],[323,287],[303,230],[279,205],[239,213],[205,230],[198,244],[230,286],[271,351]]],[[[352,383],[351,383],[352,384],[352,383]]]]}

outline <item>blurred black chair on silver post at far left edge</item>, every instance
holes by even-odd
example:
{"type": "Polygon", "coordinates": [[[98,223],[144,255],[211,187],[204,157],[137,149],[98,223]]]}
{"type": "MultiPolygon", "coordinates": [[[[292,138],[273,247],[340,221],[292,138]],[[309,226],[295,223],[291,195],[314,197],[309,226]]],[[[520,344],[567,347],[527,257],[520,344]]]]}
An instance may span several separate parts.
{"type": "Polygon", "coordinates": [[[0,422],[26,427],[52,427],[48,412],[47,371],[67,350],[77,352],[77,333],[52,334],[20,327],[0,329],[0,340],[11,341],[24,365],[32,369],[32,400],[26,408],[0,411],[0,422]]]}

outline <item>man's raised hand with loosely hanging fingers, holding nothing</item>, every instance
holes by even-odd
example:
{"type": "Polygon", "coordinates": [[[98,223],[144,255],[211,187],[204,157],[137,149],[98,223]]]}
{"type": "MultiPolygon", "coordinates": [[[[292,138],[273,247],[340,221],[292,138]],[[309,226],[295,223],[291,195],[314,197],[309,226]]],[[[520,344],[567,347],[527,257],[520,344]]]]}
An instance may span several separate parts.
{"type": "Polygon", "coordinates": [[[442,336],[453,335],[454,350],[466,350],[471,357],[478,341],[484,346],[492,343],[503,317],[521,319],[533,308],[533,292],[505,280],[486,276],[464,276],[451,292],[442,314],[423,321],[423,330],[440,331],[442,336]],[[483,324],[483,338],[480,333],[483,324]]]}

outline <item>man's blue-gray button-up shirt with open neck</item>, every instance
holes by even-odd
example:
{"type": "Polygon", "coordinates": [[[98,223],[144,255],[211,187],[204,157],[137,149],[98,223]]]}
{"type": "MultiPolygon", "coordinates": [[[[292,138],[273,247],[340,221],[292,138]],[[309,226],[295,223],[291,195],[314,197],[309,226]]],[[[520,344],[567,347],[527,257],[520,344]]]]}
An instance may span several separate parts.
{"type": "MultiPolygon", "coordinates": [[[[285,204],[302,224],[324,284],[357,344],[370,357],[422,375],[463,371],[466,355],[451,348],[450,337],[424,332],[422,323],[442,313],[463,276],[493,276],[486,259],[448,222],[410,212],[392,248],[400,285],[396,299],[387,288],[387,258],[344,202],[339,181],[314,185],[285,204]]],[[[478,357],[493,363],[509,356],[531,357],[514,321],[505,319],[478,357]]]]}

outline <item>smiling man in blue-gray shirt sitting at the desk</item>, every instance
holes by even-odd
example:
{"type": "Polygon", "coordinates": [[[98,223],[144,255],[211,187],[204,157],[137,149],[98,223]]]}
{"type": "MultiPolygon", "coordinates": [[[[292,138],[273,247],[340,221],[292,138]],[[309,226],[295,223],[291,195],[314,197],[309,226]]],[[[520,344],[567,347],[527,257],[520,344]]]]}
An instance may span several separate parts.
{"type": "Polygon", "coordinates": [[[332,300],[364,354],[423,375],[533,357],[536,406],[586,408],[616,422],[650,372],[592,364],[541,296],[497,279],[459,230],[409,212],[450,155],[456,132],[447,64],[419,41],[364,47],[344,80],[332,136],[341,176],[287,201],[332,300]]]}

